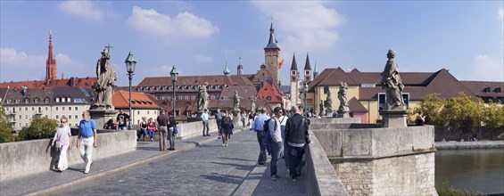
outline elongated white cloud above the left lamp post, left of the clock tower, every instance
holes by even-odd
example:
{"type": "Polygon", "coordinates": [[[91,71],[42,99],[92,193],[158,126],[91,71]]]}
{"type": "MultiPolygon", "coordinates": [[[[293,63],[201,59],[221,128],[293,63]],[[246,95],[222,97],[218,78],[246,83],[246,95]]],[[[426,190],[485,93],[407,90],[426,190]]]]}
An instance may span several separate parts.
{"type": "Polygon", "coordinates": [[[128,25],[139,31],[166,38],[167,41],[177,38],[206,38],[218,33],[219,28],[211,21],[198,18],[190,12],[178,12],[170,17],[153,9],[133,7],[128,25]]]}

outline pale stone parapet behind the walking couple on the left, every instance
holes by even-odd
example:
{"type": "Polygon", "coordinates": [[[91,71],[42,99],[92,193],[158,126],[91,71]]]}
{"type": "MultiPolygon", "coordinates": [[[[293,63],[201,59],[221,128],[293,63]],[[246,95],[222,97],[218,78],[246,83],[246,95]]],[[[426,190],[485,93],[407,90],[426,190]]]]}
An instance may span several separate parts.
{"type": "MultiPolygon", "coordinates": [[[[136,150],[136,131],[98,131],[98,148],[93,149],[93,159],[103,159],[136,150]]],[[[69,165],[82,163],[77,136],[72,136],[72,147],[68,151],[69,165]]],[[[57,152],[51,146],[53,139],[39,139],[15,143],[0,143],[0,181],[29,176],[46,171],[54,166],[57,152]]]]}

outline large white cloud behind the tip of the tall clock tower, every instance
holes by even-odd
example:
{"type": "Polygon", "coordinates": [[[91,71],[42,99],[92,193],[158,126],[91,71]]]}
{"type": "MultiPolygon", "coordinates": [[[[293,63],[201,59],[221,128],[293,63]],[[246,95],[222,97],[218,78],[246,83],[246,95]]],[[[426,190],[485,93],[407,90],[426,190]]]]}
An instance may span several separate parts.
{"type": "Polygon", "coordinates": [[[257,1],[252,4],[259,8],[262,15],[273,17],[274,28],[280,29],[276,32],[278,42],[285,48],[310,52],[332,47],[338,40],[335,29],[343,19],[335,9],[327,8],[324,2],[257,1]]]}

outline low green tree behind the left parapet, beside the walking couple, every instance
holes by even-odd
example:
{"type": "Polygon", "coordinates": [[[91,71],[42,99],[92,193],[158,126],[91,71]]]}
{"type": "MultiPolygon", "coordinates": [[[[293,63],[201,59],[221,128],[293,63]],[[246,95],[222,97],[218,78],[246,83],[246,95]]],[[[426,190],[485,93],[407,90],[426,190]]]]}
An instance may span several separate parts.
{"type": "Polygon", "coordinates": [[[21,140],[45,139],[54,136],[58,121],[50,118],[33,118],[31,125],[20,132],[21,140]]]}

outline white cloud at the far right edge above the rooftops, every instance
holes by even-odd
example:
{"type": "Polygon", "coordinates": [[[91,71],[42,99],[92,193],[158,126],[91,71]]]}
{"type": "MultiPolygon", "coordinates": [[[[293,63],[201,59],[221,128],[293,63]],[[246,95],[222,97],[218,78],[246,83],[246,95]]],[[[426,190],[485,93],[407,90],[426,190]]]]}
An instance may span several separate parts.
{"type": "Polygon", "coordinates": [[[485,54],[473,59],[472,78],[483,81],[504,81],[504,61],[485,54]]]}

